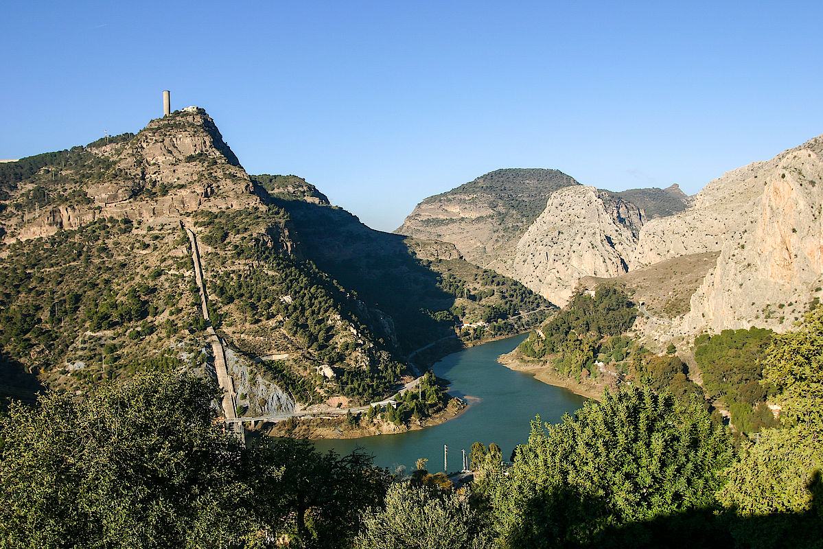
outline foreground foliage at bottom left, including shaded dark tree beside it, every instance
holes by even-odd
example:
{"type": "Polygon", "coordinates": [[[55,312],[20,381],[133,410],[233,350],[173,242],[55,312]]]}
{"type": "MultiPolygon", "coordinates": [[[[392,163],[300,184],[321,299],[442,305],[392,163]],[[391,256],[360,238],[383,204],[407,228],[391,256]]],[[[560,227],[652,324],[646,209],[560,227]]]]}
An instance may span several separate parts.
{"type": "Polygon", "coordinates": [[[215,423],[216,388],[168,374],[48,393],[0,416],[0,547],[340,547],[388,474],[300,440],[249,448],[215,423]]]}

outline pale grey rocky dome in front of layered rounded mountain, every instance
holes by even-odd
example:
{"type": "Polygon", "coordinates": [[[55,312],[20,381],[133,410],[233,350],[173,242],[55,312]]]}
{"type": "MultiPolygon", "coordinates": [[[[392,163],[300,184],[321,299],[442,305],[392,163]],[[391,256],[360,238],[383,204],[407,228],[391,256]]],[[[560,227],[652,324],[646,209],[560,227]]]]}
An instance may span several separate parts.
{"type": "Polygon", "coordinates": [[[585,276],[616,277],[629,269],[644,214],[630,202],[588,186],[560,189],[518,240],[504,274],[564,305],[585,276]]]}

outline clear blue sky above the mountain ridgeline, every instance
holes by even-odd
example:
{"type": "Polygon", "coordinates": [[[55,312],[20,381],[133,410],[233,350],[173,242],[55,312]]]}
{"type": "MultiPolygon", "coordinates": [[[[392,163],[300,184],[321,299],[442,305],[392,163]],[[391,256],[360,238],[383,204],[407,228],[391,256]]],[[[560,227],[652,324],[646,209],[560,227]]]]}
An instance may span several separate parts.
{"type": "Polygon", "coordinates": [[[823,2],[6,2],[0,158],[207,109],[367,225],[491,170],[681,185],[823,133],[823,2]]]}

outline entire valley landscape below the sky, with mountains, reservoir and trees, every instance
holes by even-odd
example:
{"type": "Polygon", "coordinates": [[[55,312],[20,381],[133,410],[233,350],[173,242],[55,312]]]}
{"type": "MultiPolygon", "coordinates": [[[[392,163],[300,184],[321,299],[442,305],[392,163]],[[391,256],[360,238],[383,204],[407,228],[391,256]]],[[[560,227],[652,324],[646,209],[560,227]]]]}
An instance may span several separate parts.
{"type": "Polygon", "coordinates": [[[391,234],[197,107],[2,163],[0,532],[819,541],[821,143],[694,197],[495,170],[391,234]]]}

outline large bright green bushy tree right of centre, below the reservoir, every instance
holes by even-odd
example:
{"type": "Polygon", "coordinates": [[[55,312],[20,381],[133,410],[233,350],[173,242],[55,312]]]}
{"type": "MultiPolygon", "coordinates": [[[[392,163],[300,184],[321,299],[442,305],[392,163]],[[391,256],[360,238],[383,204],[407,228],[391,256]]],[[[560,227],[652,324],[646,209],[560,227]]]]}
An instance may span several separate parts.
{"type": "Polygon", "coordinates": [[[599,542],[607,528],[714,505],[732,455],[728,431],[700,403],[648,388],[605,393],[546,427],[532,422],[491,489],[504,547],[599,542]]]}

